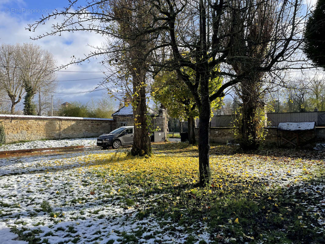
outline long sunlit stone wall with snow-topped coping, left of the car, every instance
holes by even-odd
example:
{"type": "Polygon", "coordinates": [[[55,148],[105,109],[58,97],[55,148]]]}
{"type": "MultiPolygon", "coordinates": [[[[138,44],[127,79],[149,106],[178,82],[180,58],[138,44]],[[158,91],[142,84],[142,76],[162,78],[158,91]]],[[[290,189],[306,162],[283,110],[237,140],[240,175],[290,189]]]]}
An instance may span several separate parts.
{"type": "Polygon", "coordinates": [[[40,139],[97,137],[116,129],[113,119],[0,115],[6,143],[40,139]]]}

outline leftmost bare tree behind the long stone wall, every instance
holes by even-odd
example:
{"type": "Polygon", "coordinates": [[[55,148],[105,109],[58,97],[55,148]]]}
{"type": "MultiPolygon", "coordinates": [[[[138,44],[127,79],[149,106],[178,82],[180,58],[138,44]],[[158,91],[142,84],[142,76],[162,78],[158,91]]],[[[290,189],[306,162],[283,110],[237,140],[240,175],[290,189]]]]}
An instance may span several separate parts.
{"type": "Polygon", "coordinates": [[[14,114],[15,106],[24,94],[22,80],[20,79],[18,44],[1,45],[0,88],[8,95],[11,102],[10,114],[14,114]]]}

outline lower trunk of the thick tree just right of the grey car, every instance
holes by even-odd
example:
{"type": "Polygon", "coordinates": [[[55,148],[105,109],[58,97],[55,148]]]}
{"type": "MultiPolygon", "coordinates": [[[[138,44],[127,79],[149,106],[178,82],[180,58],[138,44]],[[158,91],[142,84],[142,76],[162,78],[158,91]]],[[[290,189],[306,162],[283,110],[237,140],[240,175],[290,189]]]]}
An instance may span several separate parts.
{"type": "Polygon", "coordinates": [[[133,75],[133,117],[135,121],[131,149],[132,156],[151,155],[151,133],[147,122],[146,88],[141,85],[141,82],[145,82],[145,73],[140,72],[140,74],[133,75]]]}

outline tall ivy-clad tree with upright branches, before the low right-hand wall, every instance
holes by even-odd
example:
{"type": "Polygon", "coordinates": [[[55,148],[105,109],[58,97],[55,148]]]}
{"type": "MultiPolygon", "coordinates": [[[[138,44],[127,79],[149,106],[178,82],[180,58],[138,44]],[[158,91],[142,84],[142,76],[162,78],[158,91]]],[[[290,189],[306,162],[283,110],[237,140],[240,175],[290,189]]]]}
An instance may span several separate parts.
{"type": "Polygon", "coordinates": [[[258,69],[265,65],[266,58],[270,55],[269,40],[277,36],[275,33],[277,2],[277,0],[258,0],[256,5],[247,5],[244,14],[241,11],[242,3],[234,2],[230,13],[232,22],[230,28],[234,28],[235,34],[228,63],[237,75],[247,74],[241,78],[236,89],[242,101],[238,140],[241,148],[245,150],[257,149],[260,140],[263,139],[263,127],[259,125],[260,115],[264,112],[266,89],[263,87],[266,82],[263,79],[266,75],[258,69]]]}

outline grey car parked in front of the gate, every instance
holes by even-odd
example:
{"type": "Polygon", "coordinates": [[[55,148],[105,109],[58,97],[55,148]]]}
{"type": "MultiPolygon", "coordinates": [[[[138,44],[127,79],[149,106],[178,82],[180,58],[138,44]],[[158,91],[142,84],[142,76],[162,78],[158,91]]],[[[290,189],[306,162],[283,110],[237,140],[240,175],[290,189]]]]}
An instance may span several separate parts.
{"type": "Polygon", "coordinates": [[[108,147],[119,148],[121,145],[133,144],[133,126],[123,126],[114,129],[108,134],[102,134],[97,138],[97,146],[106,149],[108,147]]]}

